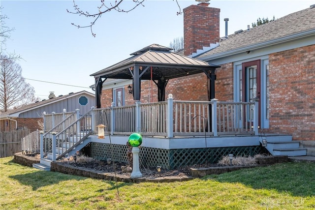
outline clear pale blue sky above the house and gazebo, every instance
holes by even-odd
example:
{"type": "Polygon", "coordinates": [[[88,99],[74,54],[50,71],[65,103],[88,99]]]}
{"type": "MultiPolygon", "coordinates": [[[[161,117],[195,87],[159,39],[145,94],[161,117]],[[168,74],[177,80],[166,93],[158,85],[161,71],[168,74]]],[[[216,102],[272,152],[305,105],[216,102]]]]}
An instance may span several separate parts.
{"type": "MultiPolygon", "coordinates": [[[[194,0],[178,2],[182,9],[197,4],[194,0]]],[[[93,11],[99,0],[76,0],[76,3],[83,10],[93,11]]],[[[224,36],[224,18],[229,18],[228,34],[232,34],[246,30],[258,17],[277,19],[314,3],[314,0],[211,0],[210,6],[221,9],[220,36],[224,36]]],[[[105,13],[93,28],[96,37],[88,28],[71,25],[91,22],[66,12],[73,8],[72,0],[0,0],[0,4],[1,12],[9,18],[6,26],[15,28],[7,41],[7,51],[22,56],[23,60],[18,61],[22,75],[41,99],[47,99],[50,91],[57,96],[81,90],[93,92],[88,89],[94,84],[90,74],[129,58],[130,53],[150,44],[169,46],[174,38],[183,36],[183,15],[176,14],[178,6],[174,0],[146,0],[145,6],[128,13],[105,13]]],[[[123,7],[131,5],[131,0],[125,0],[123,7]]]]}

